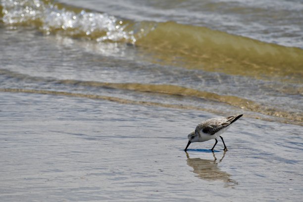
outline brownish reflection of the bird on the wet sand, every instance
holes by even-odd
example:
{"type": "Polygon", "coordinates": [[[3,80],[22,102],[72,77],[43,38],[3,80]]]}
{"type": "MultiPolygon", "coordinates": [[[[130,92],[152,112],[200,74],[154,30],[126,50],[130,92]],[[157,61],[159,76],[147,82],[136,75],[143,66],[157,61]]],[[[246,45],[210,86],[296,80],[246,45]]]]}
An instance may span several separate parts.
{"type": "Polygon", "coordinates": [[[212,152],[212,155],[214,157],[214,160],[190,158],[188,152],[186,152],[187,164],[193,167],[193,172],[197,174],[197,177],[203,180],[222,181],[224,183],[227,183],[227,187],[233,187],[234,185],[237,185],[238,183],[231,179],[231,175],[229,173],[220,170],[218,167],[218,163],[223,160],[225,152],[219,161],[217,161],[214,152],[212,152]]]}

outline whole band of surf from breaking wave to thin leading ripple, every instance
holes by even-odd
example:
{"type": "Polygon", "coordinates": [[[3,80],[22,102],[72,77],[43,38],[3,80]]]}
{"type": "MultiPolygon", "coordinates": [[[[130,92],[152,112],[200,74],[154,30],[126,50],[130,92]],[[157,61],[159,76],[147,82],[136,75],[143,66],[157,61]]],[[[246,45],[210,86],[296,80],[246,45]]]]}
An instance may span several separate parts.
{"type": "Polygon", "coordinates": [[[2,91],[43,87],[302,125],[302,49],[51,0],[0,8],[2,91]]]}

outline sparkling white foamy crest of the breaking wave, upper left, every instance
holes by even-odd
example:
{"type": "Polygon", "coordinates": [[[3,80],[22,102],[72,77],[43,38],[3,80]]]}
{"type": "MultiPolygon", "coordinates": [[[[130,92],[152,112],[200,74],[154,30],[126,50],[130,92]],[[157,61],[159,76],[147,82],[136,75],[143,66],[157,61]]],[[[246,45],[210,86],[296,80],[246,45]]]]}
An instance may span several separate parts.
{"type": "Polygon", "coordinates": [[[125,31],[128,23],[107,13],[68,7],[50,0],[3,0],[2,21],[10,25],[35,25],[46,34],[60,32],[72,37],[87,37],[98,42],[128,42],[136,39],[125,31]]]}

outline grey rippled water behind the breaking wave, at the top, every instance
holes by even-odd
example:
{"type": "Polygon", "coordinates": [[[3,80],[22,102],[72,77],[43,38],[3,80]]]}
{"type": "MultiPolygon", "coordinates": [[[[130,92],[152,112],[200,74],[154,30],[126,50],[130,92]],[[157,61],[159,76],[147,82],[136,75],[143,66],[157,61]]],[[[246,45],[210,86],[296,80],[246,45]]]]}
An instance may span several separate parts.
{"type": "Polygon", "coordinates": [[[174,21],[303,48],[300,0],[59,0],[137,21],[174,21]]]}

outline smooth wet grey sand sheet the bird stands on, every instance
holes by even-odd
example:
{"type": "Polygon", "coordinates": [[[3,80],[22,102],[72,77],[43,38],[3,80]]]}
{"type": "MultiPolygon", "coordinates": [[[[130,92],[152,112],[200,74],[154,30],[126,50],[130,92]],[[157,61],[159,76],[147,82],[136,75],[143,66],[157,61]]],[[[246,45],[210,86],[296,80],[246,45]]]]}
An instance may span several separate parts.
{"type": "Polygon", "coordinates": [[[68,96],[0,93],[0,201],[292,201],[302,126],[242,117],[219,140],[187,134],[218,115],[68,96]]]}

